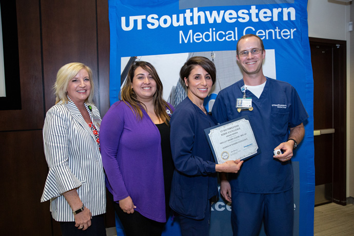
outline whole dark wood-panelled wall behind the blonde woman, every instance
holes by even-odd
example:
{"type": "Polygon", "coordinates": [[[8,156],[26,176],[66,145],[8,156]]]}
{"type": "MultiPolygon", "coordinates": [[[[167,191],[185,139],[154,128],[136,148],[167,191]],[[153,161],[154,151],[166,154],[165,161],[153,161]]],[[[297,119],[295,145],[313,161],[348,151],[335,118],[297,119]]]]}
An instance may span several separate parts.
{"type": "MultiPolygon", "coordinates": [[[[16,10],[22,109],[0,111],[0,229],[4,235],[60,235],[49,202],[40,203],[48,173],[43,121],[55,102],[56,73],[69,62],[92,69],[95,103],[101,113],[108,110],[108,2],[16,0],[16,10]]],[[[114,226],[111,208],[107,227],[114,226]]]]}

